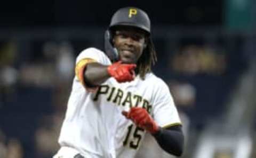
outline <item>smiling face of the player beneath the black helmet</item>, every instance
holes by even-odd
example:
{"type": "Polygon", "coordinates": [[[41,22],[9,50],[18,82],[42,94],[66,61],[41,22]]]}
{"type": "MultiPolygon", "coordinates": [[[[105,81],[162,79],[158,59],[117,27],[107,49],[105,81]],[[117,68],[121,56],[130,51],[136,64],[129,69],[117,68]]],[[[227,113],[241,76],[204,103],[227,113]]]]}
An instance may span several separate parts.
{"type": "Polygon", "coordinates": [[[114,46],[123,63],[137,63],[145,48],[145,34],[131,28],[118,29],[114,36],[114,46]]]}

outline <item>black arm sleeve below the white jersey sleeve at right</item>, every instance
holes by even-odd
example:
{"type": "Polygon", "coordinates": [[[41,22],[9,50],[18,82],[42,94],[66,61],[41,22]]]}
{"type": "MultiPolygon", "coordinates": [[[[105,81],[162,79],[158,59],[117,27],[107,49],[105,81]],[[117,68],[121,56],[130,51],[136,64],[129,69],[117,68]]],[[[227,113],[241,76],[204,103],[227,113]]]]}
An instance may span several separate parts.
{"type": "Polygon", "coordinates": [[[181,125],[171,126],[168,128],[160,128],[153,135],[161,148],[167,153],[175,156],[181,156],[184,147],[184,136],[181,125]]]}

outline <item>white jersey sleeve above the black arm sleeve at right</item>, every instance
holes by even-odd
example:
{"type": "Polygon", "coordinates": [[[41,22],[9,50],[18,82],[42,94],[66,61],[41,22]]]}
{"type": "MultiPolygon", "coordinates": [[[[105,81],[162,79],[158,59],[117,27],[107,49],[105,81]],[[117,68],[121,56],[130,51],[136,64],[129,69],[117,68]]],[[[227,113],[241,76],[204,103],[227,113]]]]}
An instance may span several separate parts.
{"type": "Polygon", "coordinates": [[[181,124],[169,87],[159,78],[153,101],[153,117],[160,127],[181,124]]]}

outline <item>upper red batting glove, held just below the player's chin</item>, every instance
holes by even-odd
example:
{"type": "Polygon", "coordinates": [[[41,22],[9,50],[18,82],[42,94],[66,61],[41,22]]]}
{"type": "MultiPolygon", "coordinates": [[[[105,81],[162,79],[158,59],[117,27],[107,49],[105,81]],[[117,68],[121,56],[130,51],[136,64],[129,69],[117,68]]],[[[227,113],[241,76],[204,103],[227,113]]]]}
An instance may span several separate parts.
{"type": "Polygon", "coordinates": [[[134,69],[136,64],[122,64],[121,61],[116,62],[108,66],[108,73],[110,76],[114,77],[117,82],[129,82],[133,81],[135,78],[134,69]]]}

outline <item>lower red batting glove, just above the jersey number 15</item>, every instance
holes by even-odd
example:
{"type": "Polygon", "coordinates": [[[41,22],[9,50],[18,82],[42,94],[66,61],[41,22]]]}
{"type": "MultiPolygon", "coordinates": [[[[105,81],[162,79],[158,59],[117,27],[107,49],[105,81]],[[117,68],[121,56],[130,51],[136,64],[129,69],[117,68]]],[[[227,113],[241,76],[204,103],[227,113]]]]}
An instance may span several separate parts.
{"type": "Polygon", "coordinates": [[[149,131],[151,134],[155,134],[159,130],[156,122],[151,118],[146,109],[133,107],[129,112],[122,111],[122,114],[127,119],[131,119],[135,125],[149,131]]]}

